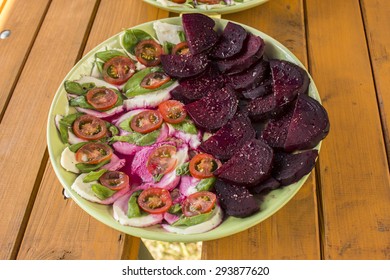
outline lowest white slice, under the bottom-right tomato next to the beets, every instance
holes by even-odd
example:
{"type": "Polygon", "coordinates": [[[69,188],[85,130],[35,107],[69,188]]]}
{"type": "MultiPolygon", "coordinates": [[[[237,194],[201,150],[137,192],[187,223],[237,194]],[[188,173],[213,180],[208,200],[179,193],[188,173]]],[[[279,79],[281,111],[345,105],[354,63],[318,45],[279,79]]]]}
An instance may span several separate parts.
{"type": "Polygon", "coordinates": [[[162,224],[162,227],[169,232],[179,233],[179,234],[196,234],[203,233],[212,230],[213,228],[219,226],[223,220],[223,212],[221,207],[215,205],[215,209],[213,210],[213,216],[204,223],[194,225],[194,226],[178,226],[174,227],[168,224],[162,224]]]}

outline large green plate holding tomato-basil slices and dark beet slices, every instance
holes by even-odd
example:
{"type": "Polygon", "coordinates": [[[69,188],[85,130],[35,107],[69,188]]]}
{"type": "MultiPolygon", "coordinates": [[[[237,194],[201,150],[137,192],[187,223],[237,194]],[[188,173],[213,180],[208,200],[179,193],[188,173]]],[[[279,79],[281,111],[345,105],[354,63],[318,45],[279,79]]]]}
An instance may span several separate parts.
{"type": "Polygon", "coordinates": [[[281,209],[329,131],[302,63],[259,30],[192,13],[96,46],[66,75],[47,126],[71,198],[129,235],[195,242],[281,209]]]}

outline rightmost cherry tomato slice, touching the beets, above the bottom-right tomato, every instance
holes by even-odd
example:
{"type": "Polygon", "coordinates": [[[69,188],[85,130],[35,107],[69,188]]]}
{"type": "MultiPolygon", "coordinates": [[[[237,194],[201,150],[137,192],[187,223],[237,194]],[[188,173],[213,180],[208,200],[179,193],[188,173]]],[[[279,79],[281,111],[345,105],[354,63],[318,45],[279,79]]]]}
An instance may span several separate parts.
{"type": "Polygon", "coordinates": [[[221,166],[221,162],[209,154],[197,154],[190,160],[190,173],[198,179],[213,177],[213,172],[221,166]]]}

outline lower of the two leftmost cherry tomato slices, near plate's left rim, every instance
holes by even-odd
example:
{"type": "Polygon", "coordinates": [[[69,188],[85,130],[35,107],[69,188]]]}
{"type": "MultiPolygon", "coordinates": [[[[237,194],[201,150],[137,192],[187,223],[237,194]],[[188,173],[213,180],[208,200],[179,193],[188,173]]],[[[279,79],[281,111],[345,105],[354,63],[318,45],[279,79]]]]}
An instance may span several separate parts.
{"type": "Polygon", "coordinates": [[[104,143],[90,142],[76,152],[76,160],[86,164],[98,164],[112,157],[112,149],[104,143]]]}

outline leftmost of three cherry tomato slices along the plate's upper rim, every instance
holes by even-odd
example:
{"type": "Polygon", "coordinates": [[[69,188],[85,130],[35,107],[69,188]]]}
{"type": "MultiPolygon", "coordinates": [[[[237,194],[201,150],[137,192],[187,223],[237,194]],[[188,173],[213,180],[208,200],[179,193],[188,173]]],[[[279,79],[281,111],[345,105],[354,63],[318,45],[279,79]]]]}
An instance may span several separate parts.
{"type": "Polygon", "coordinates": [[[103,79],[113,85],[125,83],[135,73],[134,62],[125,56],[116,56],[103,65],[103,79]]]}

